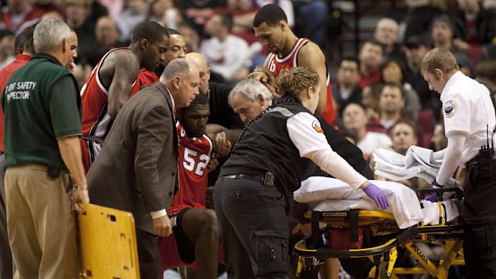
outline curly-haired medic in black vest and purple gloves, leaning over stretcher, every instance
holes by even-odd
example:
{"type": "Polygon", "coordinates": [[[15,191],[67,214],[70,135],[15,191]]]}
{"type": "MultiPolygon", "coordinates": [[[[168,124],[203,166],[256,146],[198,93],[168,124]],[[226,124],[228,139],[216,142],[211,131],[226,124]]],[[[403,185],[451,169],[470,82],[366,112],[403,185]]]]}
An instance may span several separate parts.
{"type": "Polygon", "coordinates": [[[214,191],[231,279],[289,278],[286,215],[291,192],[313,161],[363,191],[382,209],[384,193],[335,153],[312,114],[320,92],[318,74],[305,67],[283,70],[282,98],[251,121],[220,169],[214,191]]]}

